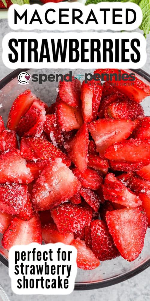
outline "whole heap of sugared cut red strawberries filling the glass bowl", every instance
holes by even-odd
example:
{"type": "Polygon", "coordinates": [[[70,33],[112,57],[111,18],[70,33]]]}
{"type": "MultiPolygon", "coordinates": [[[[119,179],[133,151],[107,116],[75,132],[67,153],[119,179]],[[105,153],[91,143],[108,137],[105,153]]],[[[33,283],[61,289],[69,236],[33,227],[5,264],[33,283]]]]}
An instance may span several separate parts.
{"type": "Polygon", "coordinates": [[[50,107],[26,90],[7,129],[0,119],[5,249],[71,244],[78,267],[89,270],[141,253],[150,226],[150,117],[140,102],[150,87],[138,78],[134,86],[108,84],[60,82],[50,107]]]}

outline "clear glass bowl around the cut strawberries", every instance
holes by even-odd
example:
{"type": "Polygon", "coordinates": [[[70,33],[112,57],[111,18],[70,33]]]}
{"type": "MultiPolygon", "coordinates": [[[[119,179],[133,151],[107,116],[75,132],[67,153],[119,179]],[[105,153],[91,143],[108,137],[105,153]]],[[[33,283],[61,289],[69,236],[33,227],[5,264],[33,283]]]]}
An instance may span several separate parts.
{"type": "MultiPolygon", "coordinates": [[[[17,76],[21,71],[28,71],[29,74],[66,74],[69,71],[65,69],[50,70],[50,69],[30,69],[30,70],[15,70],[7,75],[0,82],[0,115],[3,116],[4,122],[7,122],[8,112],[16,98],[16,96],[26,89],[31,89],[41,100],[48,105],[55,101],[58,93],[58,82],[39,82],[29,81],[28,85],[18,84],[17,76]]],[[[72,75],[78,76],[80,74],[81,81],[84,73],[93,73],[94,70],[70,70],[72,75]]],[[[128,70],[131,73],[131,70],[128,70]]],[[[141,69],[132,70],[137,73],[137,76],[150,84],[150,76],[141,69]]],[[[146,115],[150,115],[150,97],[145,98],[142,102],[143,109],[146,115]]],[[[1,237],[0,237],[1,240],[1,237]]],[[[0,246],[0,261],[8,266],[8,251],[0,246]]],[[[121,281],[127,280],[132,276],[142,272],[150,265],[150,228],[147,230],[144,248],[139,258],[133,262],[127,262],[121,256],[115,259],[101,262],[101,265],[95,270],[85,271],[78,269],[75,283],[75,290],[91,290],[101,287],[107,287],[121,281]]]]}

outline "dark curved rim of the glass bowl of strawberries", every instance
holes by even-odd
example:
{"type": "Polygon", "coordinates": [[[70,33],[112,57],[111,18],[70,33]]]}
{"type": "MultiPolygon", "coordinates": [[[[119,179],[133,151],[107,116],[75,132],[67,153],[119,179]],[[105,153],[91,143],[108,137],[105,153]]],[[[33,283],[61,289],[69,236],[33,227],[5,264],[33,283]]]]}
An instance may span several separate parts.
{"type": "MultiPolygon", "coordinates": [[[[13,80],[17,75],[22,72],[22,71],[28,71],[33,68],[28,68],[28,69],[16,69],[13,72],[9,73],[7,76],[5,76],[3,79],[0,81],[0,90],[7,85],[11,80],[13,80]]],[[[146,71],[142,69],[130,69],[131,71],[137,73],[144,79],[146,79],[150,83],[150,74],[148,74],[146,71]]],[[[0,261],[8,267],[8,259],[6,259],[1,253],[0,253],[0,261]]],[[[95,281],[95,282],[82,282],[82,283],[76,283],[75,282],[75,287],[74,290],[94,290],[94,289],[99,289],[103,287],[108,287],[114,284],[118,284],[122,281],[128,280],[131,277],[136,276],[137,274],[143,272],[146,268],[150,266],[150,259],[146,260],[143,264],[141,264],[139,267],[134,268],[132,271],[127,272],[123,275],[116,276],[113,278],[110,278],[108,280],[102,280],[102,281],[95,281]]]]}

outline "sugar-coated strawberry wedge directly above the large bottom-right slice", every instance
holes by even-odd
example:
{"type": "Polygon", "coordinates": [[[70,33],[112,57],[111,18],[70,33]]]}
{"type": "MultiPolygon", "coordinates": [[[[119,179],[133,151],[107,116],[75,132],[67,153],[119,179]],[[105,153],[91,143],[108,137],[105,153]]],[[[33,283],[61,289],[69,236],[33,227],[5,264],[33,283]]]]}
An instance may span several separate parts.
{"type": "Polygon", "coordinates": [[[104,185],[103,194],[105,200],[119,203],[126,207],[137,207],[142,204],[140,198],[132,193],[122,182],[120,182],[113,173],[107,174],[104,185]]]}

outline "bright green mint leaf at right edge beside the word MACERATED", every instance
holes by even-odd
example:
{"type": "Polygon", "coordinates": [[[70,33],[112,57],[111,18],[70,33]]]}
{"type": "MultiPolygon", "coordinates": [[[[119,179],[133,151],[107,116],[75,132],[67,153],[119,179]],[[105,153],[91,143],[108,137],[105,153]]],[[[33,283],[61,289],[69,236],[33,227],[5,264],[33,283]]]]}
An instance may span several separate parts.
{"type": "Polygon", "coordinates": [[[150,31],[150,0],[141,0],[139,6],[143,13],[143,20],[139,28],[143,30],[146,38],[150,31]]]}

